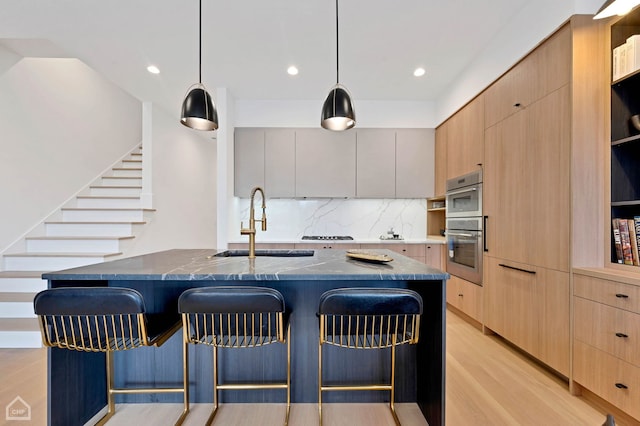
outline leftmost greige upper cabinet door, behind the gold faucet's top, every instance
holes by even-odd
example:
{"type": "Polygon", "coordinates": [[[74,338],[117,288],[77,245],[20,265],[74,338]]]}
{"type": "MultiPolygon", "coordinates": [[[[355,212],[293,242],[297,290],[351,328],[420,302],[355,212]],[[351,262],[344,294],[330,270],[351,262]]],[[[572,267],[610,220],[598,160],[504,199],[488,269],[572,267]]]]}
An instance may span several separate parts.
{"type": "Polygon", "coordinates": [[[234,194],[248,198],[264,187],[264,129],[238,128],[234,133],[234,194]]]}

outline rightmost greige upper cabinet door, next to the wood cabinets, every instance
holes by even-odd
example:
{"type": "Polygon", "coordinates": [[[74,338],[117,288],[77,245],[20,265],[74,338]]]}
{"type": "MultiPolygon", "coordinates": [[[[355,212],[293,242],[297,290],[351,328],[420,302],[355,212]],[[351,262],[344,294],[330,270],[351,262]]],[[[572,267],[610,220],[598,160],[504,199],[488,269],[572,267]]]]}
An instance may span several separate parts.
{"type": "Polygon", "coordinates": [[[396,198],[433,197],[434,129],[396,130],[396,198]]]}

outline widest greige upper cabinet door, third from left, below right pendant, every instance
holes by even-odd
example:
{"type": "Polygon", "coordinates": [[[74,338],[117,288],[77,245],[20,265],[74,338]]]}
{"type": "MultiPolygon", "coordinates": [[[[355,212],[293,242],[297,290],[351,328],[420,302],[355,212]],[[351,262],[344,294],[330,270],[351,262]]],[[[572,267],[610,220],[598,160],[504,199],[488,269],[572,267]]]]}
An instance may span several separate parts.
{"type": "Polygon", "coordinates": [[[296,130],[296,197],[355,195],[355,130],[296,130]]]}

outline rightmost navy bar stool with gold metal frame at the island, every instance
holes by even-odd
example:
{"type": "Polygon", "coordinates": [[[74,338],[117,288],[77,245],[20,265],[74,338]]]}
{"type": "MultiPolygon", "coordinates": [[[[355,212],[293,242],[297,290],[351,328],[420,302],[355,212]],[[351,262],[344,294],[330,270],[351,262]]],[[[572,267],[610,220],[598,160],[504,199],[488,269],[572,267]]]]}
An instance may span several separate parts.
{"type": "Polygon", "coordinates": [[[390,391],[389,408],[397,425],[394,407],[395,348],[418,343],[422,298],[412,290],[397,288],[340,288],[320,296],[320,341],[318,347],[318,413],[322,425],[322,393],[329,391],[390,391]],[[388,383],[322,384],[322,347],[349,349],[391,348],[388,383]]]}

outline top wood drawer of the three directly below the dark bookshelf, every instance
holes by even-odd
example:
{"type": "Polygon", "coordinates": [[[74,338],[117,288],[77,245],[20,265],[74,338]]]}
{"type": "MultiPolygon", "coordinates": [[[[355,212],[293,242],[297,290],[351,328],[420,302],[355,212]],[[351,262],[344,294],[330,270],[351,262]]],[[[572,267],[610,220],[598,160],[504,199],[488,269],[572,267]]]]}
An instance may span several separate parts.
{"type": "Polygon", "coordinates": [[[574,276],[573,294],[635,313],[640,313],[640,287],[586,275],[574,276]]]}

